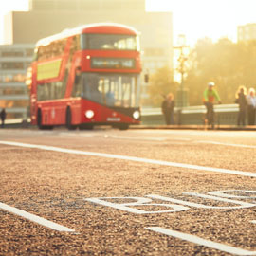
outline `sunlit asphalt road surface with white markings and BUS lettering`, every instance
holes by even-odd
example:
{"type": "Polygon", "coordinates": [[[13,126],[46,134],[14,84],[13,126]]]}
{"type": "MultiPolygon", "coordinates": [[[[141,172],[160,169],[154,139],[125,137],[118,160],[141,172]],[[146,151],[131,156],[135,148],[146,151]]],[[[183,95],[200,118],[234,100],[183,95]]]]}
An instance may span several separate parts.
{"type": "Polygon", "coordinates": [[[256,255],[256,133],[0,129],[0,255],[256,255]]]}

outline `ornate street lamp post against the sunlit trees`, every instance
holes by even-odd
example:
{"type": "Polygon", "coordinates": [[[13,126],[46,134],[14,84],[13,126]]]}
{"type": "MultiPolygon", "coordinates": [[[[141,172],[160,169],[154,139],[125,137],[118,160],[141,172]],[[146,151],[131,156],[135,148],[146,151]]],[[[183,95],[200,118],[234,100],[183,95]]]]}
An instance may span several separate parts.
{"type": "Polygon", "coordinates": [[[180,109],[188,104],[187,99],[184,99],[184,76],[186,74],[185,64],[188,60],[188,55],[190,51],[190,46],[186,45],[186,37],[181,34],[178,35],[178,44],[174,46],[174,49],[178,51],[178,59],[177,62],[179,64],[178,73],[180,74],[180,93],[179,93],[179,106],[180,109]],[[185,101],[184,101],[185,100],[185,101]]]}

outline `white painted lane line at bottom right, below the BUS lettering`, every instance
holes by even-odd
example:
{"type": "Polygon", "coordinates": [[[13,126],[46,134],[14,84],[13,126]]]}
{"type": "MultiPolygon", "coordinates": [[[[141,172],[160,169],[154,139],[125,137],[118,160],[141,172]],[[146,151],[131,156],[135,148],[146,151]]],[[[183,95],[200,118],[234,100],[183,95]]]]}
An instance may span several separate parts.
{"type": "Polygon", "coordinates": [[[145,229],[152,230],[152,231],[166,234],[166,235],[170,235],[175,238],[179,238],[181,240],[185,240],[185,241],[188,241],[188,242],[191,242],[194,244],[198,244],[200,246],[210,247],[210,248],[218,249],[221,251],[225,251],[225,252],[228,252],[228,253],[231,253],[234,255],[256,255],[256,251],[249,251],[249,250],[242,249],[242,248],[230,247],[227,245],[223,245],[221,243],[212,242],[210,240],[200,238],[195,235],[178,232],[178,231],[174,231],[171,229],[163,229],[161,227],[148,227],[145,229]]]}

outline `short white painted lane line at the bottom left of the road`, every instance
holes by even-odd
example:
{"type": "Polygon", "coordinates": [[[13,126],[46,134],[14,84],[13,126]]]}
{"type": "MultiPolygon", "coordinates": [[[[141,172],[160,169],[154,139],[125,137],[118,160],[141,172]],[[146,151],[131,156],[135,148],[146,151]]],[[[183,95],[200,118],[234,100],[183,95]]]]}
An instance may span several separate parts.
{"type": "Polygon", "coordinates": [[[6,210],[6,211],[9,211],[10,213],[13,213],[13,214],[16,214],[20,217],[23,217],[29,221],[32,221],[32,222],[35,222],[37,224],[40,224],[42,226],[45,226],[46,228],[49,228],[49,229],[54,229],[54,230],[57,230],[57,231],[61,231],[61,232],[75,232],[74,229],[68,229],[62,225],[59,225],[57,223],[54,223],[52,221],[48,221],[42,217],[39,217],[37,215],[34,215],[34,214],[31,214],[25,210],[19,210],[15,207],[10,207],[9,205],[6,205],[4,203],[1,203],[0,202],[0,209],[1,210],[6,210]]]}

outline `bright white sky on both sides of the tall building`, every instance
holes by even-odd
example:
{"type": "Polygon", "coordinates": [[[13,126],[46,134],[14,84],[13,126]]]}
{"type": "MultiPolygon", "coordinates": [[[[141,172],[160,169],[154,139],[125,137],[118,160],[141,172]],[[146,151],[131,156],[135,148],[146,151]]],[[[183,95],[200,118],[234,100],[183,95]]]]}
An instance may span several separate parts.
{"type": "MultiPolygon", "coordinates": [[[[72,0],[70,0],[72,1],[72,0]]],[[[200,38],[213,42],[228,37],[236,42],[237,26],[256,23],[256,0],[146,0],[147,11],[172,11],[174,44],[184,34],[188,45],[200,38]]],[[[0,0],[0,44],[3,44],[3,15],[27,10],[28,0],[0,0]]]]}

